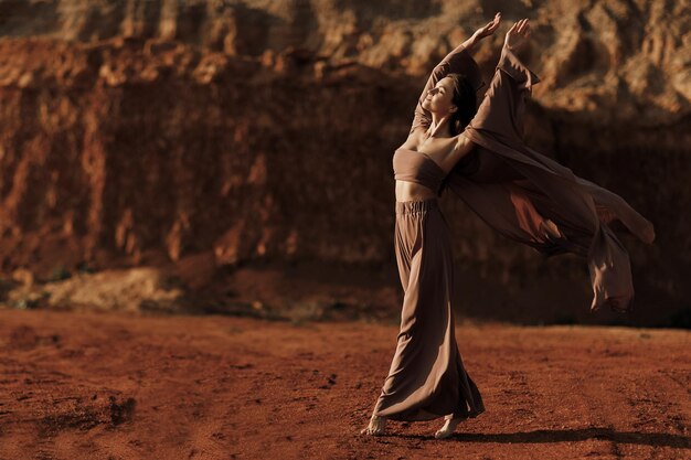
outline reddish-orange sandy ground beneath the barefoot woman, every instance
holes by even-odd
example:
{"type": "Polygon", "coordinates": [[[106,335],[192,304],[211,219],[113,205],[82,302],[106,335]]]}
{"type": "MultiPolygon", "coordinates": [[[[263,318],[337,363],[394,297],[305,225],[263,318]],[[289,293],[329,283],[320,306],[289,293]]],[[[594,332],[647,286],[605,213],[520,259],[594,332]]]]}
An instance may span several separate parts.
{"type": "Polygon", "coordinates": [[[487,411],[359,435],[396,334],[0,310],[0,459],[691,459],[691,332],[458,324],[487,411]]]}

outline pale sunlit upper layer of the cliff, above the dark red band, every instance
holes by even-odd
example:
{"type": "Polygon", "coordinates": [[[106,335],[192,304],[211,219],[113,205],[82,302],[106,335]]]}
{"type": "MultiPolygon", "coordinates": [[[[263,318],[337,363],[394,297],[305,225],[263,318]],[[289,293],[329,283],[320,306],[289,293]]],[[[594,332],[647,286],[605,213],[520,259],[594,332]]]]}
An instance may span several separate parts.
{"type": "MultiPolygon", "coordinates": [[[[658,127],[689,115],[691,7],[685,1],[85,0],[0,1],[0,35],[98,42],[178,41],[228,56],[288,49],[305,58],[419,75],[501,10],[506,26],[530,18],[535,98],[599,124],[658,127]]],[[[478,60],[490,71],[503,39],[478,60]]]]}

